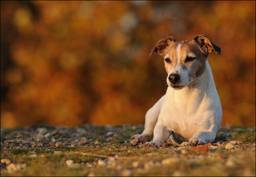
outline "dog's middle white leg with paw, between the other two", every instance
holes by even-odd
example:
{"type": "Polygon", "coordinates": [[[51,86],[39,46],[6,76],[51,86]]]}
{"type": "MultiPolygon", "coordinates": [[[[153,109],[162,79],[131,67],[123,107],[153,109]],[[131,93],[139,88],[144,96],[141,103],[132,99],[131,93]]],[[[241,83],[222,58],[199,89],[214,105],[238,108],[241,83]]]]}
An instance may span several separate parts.
{"type": "Polygon", "coordinates": [[[156,125],[155,129],[154,129],[154,138],[151,142],[146,142],[144,144],[144,147],[146,148],[150,148],[150,147],[156,147],[156,148],[160,148],[163,143],[169,138],[169,136],[171,136],[171,134],[173,133],[172,130],[167,129],[166,127],[164,127],[163,125],[156,125]]]}

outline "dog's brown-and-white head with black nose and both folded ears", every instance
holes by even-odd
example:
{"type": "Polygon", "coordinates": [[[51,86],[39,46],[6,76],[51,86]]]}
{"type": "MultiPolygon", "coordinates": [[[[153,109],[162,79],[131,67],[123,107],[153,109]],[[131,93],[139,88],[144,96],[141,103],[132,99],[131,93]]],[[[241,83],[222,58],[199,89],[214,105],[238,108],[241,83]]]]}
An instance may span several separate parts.
{"type": "Polygon", "coordinates": [[[163,56],[168,86],[181,89],[203,74],[205,61],[212,51],[221,54],[221,48],[206,35],[200,34],[191,41],[177,42],[173,36],[168,36],[156,43],[150,55],[157,52],[163,56]]]}

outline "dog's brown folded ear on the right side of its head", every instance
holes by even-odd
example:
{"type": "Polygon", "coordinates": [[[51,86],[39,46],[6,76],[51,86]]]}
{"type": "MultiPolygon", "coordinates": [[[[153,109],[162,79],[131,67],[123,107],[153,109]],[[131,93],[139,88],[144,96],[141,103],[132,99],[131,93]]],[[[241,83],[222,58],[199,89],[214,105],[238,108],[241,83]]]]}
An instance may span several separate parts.
{"type": "Polygon", "coordinates": [[[196,35],[193,37],[193,40],[197,43],[204,54],[208,55],[211,51],[214,51],[218,55],[221,55],[221,48],[215,45],[206,35],[196,35]]]}

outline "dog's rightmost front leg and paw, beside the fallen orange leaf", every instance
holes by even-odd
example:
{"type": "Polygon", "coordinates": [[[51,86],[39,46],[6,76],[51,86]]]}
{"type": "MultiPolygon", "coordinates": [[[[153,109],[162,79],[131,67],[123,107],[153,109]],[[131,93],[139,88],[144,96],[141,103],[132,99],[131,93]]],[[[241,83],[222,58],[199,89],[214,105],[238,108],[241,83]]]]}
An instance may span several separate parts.
{"type": "Polygon", "coordinates": [[[189,140],[189,145],[198,146],[213,142],[215,140],[215,131],[197,132],[193,138],[189,140]]]}

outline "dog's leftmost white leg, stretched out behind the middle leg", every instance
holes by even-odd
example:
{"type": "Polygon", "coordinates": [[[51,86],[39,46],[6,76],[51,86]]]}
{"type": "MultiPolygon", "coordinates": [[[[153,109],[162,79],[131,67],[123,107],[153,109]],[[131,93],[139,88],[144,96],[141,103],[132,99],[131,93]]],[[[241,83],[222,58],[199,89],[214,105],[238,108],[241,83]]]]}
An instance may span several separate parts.
{"type": "Polygon", "coordinates": [[[158,116],[160,114],[161,106],[165,95],[163,95],[156,104],[152,108],[148,110],[146,113],[145,119],[145,129],[142,134],[134,135],[131,139],[137,139],[139,142],[145,143],[152,139],[153,131],[156,126],[156,122],[158,120],[158,116]]]}

